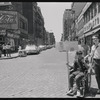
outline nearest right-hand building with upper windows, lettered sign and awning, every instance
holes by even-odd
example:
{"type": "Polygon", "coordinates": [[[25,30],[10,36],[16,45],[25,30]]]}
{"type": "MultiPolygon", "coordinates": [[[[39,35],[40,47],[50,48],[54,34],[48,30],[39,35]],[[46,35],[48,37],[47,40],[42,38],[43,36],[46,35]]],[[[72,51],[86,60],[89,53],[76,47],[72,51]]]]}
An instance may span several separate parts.
{"type": "Polygon", "coordinates": [[[83,19],[84,25],[82,25],[81,30],[78,30],[77,34],[80,34],[79,38],[84,38],[86,43],[92,46],[92,36],[94,34],[100,36],[100,3],[87,2],[77,20],[80,21],[79,19],[83,19]]]}

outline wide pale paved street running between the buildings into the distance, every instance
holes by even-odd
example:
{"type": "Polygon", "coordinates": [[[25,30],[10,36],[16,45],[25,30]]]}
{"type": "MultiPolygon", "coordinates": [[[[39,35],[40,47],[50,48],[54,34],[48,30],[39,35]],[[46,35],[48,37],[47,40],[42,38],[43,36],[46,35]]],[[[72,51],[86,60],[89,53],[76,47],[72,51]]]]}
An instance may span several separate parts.
{"type": "MultiPolygon", "coordinates": [[[[74,54],[69,55],[72,63],[74,54]]],[[[73,98],[66,95],[66,52],[52,48],[39,55],[0,60],[0,63],[0,98],[73,98]]]]}

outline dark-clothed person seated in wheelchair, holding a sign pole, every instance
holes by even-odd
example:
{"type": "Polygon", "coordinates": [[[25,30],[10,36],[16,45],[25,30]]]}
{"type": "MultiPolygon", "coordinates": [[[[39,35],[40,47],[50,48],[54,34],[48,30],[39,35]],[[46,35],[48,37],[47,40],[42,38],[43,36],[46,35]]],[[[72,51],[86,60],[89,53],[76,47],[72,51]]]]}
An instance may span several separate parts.
{"type": "MultiPolygon", "coordinates": [[[[84,71],[87,69],[86,64],[84,63],[84,59],[82,57],[82,52],[76,52],[77,58],[74,61],[73,69],[71,70],[69,83],[70,83],[70,90],[67,92],[67,95],[73,96],[75,92],[77,92],[77,96],[81,96],[80,93],[80,81],[84,77],[84,71]],[[76,83],[76,91],[73,90],[73,82],[76,83]]],[[[70,65],[67,64],[69,67],[70,65]]]]}

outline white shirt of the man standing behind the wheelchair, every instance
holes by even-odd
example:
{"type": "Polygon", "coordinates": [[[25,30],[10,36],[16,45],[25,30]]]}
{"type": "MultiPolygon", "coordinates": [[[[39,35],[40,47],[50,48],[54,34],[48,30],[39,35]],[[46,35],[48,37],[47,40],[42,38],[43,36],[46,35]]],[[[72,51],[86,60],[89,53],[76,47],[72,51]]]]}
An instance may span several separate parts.
{"type": "Polygon", "coordinates": [[[99,47],[96,48],[96,46],[93,45],[92,48],[91,48],[91,56],[94,53],[93,58],[95,58],[95,59],[100,59],[100,43],[98,44],[98,46],[99,47]]]}

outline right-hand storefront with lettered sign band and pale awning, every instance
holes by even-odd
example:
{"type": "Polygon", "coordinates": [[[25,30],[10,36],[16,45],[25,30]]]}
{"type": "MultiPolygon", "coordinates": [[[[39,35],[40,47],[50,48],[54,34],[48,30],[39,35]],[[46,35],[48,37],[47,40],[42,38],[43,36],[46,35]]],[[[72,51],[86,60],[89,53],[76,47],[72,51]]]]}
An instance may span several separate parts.
{"type": "Polygon", "coordinates": [[[92,36],[96,34],[100,35],[100,13],[84,25],[84,35],[86,38],[86,42],[90,46],[93,45],[92,36]]]}

